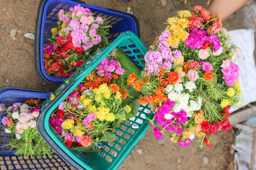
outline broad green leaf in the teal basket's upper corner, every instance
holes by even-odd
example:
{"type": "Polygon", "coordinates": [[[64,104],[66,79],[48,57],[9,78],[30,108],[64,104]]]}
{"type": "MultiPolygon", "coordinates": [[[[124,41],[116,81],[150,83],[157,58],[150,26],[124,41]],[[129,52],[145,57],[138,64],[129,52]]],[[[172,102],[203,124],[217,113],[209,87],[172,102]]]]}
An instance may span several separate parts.
{"type": "Polygon", "coordinates": [[[116,60],[129,74],[135,73],[137,78],[141,77],[141,71],[132,60],[120,48],[116,48],[116,60]]]}

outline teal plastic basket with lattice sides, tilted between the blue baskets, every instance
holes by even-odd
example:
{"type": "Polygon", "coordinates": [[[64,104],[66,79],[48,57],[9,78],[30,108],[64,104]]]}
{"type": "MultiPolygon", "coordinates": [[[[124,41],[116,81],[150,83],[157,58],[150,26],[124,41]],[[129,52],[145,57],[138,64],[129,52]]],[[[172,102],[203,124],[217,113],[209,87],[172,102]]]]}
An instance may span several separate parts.
{"type": "MultiPolygon", "coordinates": [[[[114,130],[115,141],[103,143],[100,153],[80,153],[63,144],[62,139],[49,124],[52,111],[74,90],[77,85],[116,47],[120,48],[134,61],[141,70],[144,69],[144,55],[147,47],[132,32],[125,32],[108,47],[94,53],[82,66],[80,66],[68,80],[63,83],[53,94],[54,99],[47,99],[42,106],[42,113],[38,117],[37,129],[42,138],[51,148],[76,169],[117,169],[131,152],[132,148],[145,135],[149,125],[147,118],[152,118],[149,106],[140,106],[135,118],[125,120],[114,130]],[[65,87],[65,88],[63,88],[65,87]]],[[[52,96],[53,98],[53,96],[52,96]]]]}

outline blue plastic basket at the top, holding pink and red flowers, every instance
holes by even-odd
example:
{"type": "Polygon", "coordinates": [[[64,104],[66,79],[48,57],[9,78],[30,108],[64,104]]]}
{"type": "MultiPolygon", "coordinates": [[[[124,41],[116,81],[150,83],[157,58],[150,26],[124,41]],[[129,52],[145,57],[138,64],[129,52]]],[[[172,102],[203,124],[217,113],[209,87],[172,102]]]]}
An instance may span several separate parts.
{"type": "Polygon", "coordinates": [[[58,76],[49,76],[44,69],[44,44],[51,36],[51,28],[57,22],[58,11],[68,10],[72,6],[81,4],[86,8],[90,8],[95,16],[106,18],[111,25],[109,29],[109,42],[111,43],[118,35],[125,31],[131,31],[139,35],[140,27],[138,20],[133,15],[122,13],[115,10],[107,10],[99,6],[84,4],[79,1],[71,0],[41,0],[38,7],[35,29],[35,66],[36,73],[39,78],[47,83],[63,82],[65,78],[58,76]]]}

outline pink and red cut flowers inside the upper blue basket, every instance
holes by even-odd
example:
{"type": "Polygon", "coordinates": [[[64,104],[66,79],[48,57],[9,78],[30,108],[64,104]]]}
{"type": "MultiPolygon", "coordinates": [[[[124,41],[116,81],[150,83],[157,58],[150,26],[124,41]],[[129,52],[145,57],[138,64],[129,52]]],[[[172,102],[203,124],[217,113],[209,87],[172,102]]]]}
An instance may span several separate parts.
{"type": "Polygon", "coordinates": [[[45,71],[49,75],[68,77],[93,52],[108,45],[106,20],[93,17],[92,11],[77,5],[58,12],[56,27],[44,47],[45,71]]]}

